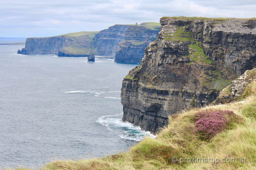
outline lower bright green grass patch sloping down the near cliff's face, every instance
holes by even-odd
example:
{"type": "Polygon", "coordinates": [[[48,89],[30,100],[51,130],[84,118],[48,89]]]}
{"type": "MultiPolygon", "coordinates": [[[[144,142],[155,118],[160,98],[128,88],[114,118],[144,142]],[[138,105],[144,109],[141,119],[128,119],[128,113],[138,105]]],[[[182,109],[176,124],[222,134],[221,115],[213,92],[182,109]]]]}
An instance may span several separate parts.
{"type": "Polygon", "coordinates": [[[212,60],[209,59],[209,57],[204,54],[204,49],[199,47],[196,43],[195,44],[189,44],[188,45],[189,50],[192,54],[189,54],[188,57],[196,62],[196,63],[203,63],[203,64],[213,64],[212,60]],[[196,51],[192,51],[196,50],[196,51]]]}

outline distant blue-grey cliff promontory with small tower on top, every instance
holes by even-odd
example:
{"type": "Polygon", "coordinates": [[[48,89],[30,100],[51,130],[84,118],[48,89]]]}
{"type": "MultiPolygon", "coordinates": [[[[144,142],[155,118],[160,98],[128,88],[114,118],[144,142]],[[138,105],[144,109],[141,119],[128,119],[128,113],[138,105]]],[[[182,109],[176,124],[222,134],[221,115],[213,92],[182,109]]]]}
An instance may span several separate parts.
{"type": "Polygon", "coordinates": [[[115,62],[140,63],[144,57],[144,49],[148,43],[156,40],[159,31],[160,26],[129,26],[124,41],[118,44],[115,62]]]}

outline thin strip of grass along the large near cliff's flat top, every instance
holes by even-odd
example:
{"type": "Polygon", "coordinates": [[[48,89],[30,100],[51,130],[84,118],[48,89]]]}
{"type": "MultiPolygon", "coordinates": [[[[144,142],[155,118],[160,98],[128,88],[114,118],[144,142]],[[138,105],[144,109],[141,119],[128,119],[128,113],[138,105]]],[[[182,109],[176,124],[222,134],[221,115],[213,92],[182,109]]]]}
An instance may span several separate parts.
{"type": "MultiPolygon", "coordinates": [[[[162,17],[160,20],[167,20],[167,19],[174,19],[174,20],[216,20],[216,21],[224,21],[231,18],[207,18],[207,17],[162,17]]],[[[236,19],[253,19],[253,18],[236,18],[236,19]]]]}

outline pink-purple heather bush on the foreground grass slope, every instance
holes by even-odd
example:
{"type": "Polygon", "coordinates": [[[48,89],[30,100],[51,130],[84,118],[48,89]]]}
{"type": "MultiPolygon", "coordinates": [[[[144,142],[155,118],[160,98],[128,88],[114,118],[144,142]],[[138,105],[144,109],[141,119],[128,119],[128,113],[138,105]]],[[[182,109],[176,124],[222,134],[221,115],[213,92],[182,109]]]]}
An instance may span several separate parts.
{"type": "Polygon", "coordinates": [[[200,138],[208,140],[228,129],[228,123],[234,120],[235,116],[229,110],[202,110],[195,116],[195,127],[200,138]]]}

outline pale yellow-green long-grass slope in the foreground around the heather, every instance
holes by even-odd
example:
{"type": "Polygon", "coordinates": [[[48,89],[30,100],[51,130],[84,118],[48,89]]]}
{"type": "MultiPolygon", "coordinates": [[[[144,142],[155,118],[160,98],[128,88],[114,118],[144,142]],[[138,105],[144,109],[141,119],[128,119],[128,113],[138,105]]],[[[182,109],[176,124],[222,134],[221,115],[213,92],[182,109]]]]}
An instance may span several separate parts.
{"type": "Polygon", "coordinates": [[[42,170],[256,169],[256,83],[248,87],[250,89],[246,91],[250,94],[244,102],[194,108],[171,116],[168,127],[157,138],[145,138],[129,152],[102,159],[57,160],[42,167],[42,170]],[[225,130],[205,140],[199,136],[195,117],[199,111],[206,109],[233,111],[236,118],[230,118],[231,123],[225,130]],[[178,158],[178,163],[171,161],[173,156],[178,158]],[[180,163],[185,158],[221,161],[180,163]],[[240,162],[240,158],[245,158],[246,162],[240,162]],[[233,161],[224,163],[222,160],[233,161]]]}

